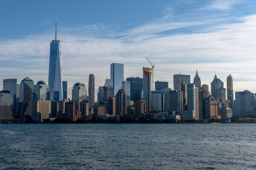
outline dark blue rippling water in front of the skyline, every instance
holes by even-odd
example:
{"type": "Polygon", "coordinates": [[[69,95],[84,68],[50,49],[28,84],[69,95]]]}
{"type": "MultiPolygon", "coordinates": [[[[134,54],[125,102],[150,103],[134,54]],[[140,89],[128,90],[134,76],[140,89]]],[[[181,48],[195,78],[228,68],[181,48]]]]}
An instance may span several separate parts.
{"type": "Polygon", "coordinates": [[[1,124],[0,169],[256,169],[256,124],[1,124]]]}

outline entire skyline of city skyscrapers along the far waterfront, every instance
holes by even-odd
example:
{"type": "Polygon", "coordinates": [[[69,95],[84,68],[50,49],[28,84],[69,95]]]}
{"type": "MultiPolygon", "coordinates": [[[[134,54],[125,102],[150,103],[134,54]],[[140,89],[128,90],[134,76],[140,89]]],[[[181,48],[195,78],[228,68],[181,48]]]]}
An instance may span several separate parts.
{"type": "Polygon", "coordinates": [[[168,82],[153,82],[152,68],[142,68],[142,78],[124,79],[124,64],[110,65],[110,79],[99,86],[95,101],[95,81],[89,75],[88,88],[82,82],[73,85],[72,99],[67,98],[67,81],[62,81],[61,42],[50,43],[48,85],[29,77],[3,79],[0,91],[0,121],[23,122],[44,119],[116,119],[122,116],[147,119],[227,119],[232,116],[256,116],[256,96],[250,91],[236,91],[233,79],[227,77],[227,86],[216,74],[209,86],[201,85],[196,71],[193,83],[190,75],[173,75],[174,89],[168,82]],[[154,83],[154,86],[153,86],[154,83]],[[153,89],[154,88],[154,89],[153,89]]]}

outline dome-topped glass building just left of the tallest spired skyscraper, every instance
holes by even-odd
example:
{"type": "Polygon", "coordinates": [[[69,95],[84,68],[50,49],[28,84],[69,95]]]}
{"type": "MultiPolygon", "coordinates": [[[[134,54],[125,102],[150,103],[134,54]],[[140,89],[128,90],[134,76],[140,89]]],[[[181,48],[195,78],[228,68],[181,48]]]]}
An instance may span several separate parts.
{"type": "Polygon", "coordinates": [[[35,95],[33,97],[35,100],[49,100],[49,91],[49,86],[44,81],[39,81],[36,85],[34,85],[33,93],[35,95]]]}

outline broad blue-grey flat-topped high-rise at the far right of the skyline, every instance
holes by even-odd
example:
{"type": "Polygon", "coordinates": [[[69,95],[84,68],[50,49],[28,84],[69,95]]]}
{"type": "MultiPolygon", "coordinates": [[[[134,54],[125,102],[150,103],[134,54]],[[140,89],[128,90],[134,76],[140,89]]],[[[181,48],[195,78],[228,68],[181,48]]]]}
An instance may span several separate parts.
{"type": "Polygon", "coordinates": [[[250,91],[236,91],[236,100],[233,107],[233,116],[241,117],[244,113],[254,112],[250,91]]]}

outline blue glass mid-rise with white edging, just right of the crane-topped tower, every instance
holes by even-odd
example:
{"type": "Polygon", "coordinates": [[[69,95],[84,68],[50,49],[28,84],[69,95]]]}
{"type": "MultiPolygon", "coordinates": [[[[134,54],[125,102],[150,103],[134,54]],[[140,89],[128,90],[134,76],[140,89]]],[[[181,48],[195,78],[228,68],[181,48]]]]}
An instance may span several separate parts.
{"type": "Polygon", "coordinates": [[[164,111],[164,94],[161,91],[151,91],[151,111],[164,111]]]}

